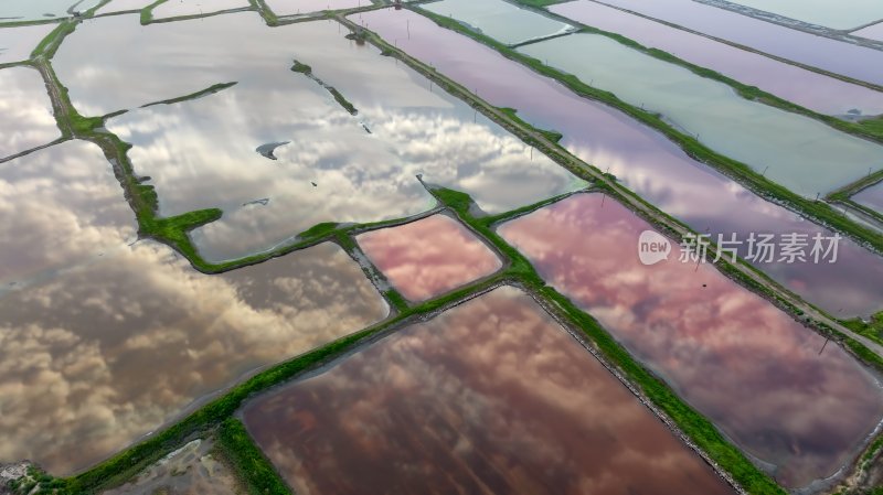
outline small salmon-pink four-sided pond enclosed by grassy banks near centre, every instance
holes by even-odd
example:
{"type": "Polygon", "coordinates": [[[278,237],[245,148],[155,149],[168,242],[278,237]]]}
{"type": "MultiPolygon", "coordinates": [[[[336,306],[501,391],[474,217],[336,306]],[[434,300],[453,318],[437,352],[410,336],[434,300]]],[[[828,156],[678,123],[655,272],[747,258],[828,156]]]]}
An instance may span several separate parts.
{"type": "Polygon", "coordinates": [[[402,295],[423,301],[487,277],[500,259],[446,215],[360,235],[365,255],[402,295]]]}

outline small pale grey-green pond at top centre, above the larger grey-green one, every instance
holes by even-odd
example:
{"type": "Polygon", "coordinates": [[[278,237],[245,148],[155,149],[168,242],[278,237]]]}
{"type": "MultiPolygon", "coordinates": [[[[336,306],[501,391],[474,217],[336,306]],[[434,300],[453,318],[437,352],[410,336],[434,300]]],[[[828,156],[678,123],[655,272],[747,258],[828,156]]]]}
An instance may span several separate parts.
{"type": "Polygon", "coordinates": [[[573,29],[561,21],[502,0],[442,0],[421,8],[456,19],[506,44],[545,37],[573,29]]]}

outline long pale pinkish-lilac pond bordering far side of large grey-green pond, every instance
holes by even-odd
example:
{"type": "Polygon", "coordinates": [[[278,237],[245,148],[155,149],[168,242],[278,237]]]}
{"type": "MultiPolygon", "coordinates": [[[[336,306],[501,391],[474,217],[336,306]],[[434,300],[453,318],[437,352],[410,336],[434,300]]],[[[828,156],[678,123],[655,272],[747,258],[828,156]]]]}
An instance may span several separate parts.
{"type": "Polygon", "coordinates": [[[591,0],[550,6],[549,10],[638,43],[669,52],[692,64],[794,101],[820,114],[883,114],[883,93],[847,83],[700,34],[624,12],[591,0]]]}

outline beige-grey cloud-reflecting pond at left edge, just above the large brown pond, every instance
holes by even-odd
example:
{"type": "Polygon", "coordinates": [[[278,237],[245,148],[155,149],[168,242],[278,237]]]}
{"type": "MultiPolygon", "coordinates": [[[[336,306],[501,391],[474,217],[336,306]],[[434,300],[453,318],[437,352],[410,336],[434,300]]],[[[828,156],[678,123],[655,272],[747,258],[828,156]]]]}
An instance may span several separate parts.
{"type": "Polygon", "coordinates": [[[137,238],[100,148],[67,141],[0,163],[0,295],[92,263],[137,238]]]}

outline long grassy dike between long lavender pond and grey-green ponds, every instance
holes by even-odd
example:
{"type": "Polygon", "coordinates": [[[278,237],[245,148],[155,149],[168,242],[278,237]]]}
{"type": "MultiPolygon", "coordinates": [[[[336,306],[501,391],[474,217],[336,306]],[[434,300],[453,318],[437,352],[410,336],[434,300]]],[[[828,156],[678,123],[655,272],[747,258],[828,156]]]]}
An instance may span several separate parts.
{"type": "Polygon", "coordinates": [[[594,99],[614,107],[635,120],[638,120],[639,122],[660,131],[696,161],[714,166],[733,180],[744,184],[746,187],[762,197],[785,204],[791,209],[799,212],[804,216],[813,219],[821,225],[826,225],[834,230],[840,232],[841,234],[853,237],[861,243],[866,243],[877,251],[883,251],[882,234],[855,224],[825,202],[807,200],[798,194],[795,194],[788,189],[755,172],[748,165],[706,148],[704,144],[699,142],[695,137],[687,134],[667,123],[658,114],[652,114],[629,105],[617,98],[613,93],[588,86],[572,74],[565,74],[556,68],[546,66],[536,58],[526,56],[491,37],[469,30],[454,19],[435,14],[418,7],[409,6],[408,8],[432,19],[443,28],[450,29],[488,45],[507,58],[519,62],[542,76],[558,80],[577,96],[594,99]]]}

